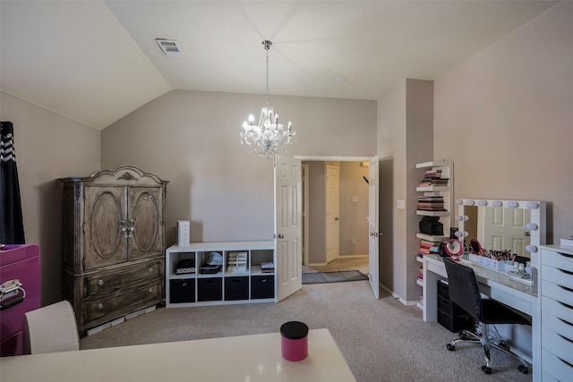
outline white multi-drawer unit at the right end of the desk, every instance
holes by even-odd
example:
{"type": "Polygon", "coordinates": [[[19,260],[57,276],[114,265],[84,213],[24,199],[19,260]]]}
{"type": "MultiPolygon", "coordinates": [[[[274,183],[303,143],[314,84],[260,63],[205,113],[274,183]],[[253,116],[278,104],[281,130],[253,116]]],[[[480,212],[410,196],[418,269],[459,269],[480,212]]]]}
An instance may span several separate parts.
{"type": "Polygon", "coordinates": [[[573,374],[573,248],[541,247],[543,381],[573,374]]]}

